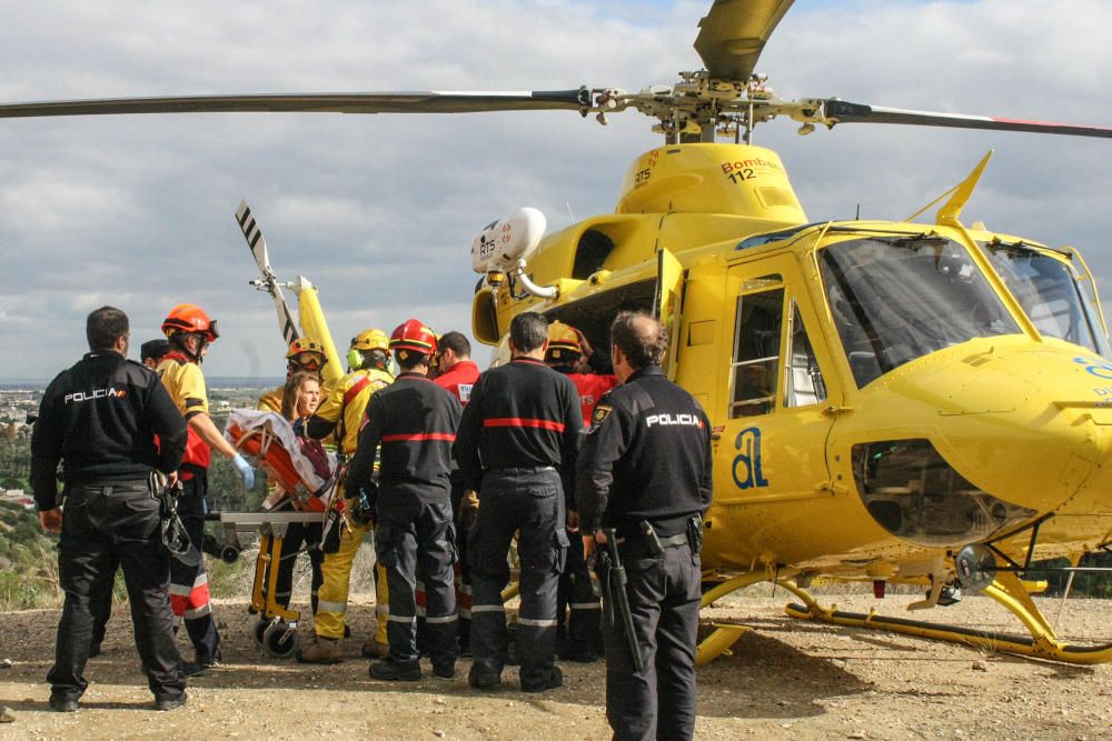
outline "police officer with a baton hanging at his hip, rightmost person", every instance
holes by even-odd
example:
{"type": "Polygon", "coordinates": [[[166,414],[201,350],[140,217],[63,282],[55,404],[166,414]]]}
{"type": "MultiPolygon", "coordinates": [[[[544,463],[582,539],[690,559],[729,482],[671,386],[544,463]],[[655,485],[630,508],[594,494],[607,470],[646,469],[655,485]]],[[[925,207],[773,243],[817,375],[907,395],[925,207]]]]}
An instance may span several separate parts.
{"type": "Polygon", "coordinates": [[[617,531],[644,669],[635,668],[616,600],[604,591],[606,717],[615,739],[691,739],[711,425],[698,402],[664,377],[667,337],[658,321],[624,312],[610,341],[623,385],[595,408],[576,498],[586,552],[604,548],[602,529],[617,531]]]}

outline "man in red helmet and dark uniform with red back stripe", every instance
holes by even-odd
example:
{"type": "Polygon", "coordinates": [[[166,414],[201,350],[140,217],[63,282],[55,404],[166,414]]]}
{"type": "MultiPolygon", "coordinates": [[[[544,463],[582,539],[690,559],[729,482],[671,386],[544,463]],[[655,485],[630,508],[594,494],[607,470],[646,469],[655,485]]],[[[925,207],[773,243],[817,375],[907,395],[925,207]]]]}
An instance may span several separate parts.
{"type": "Polygon", "coordinates": [[[433,673],[456,675],[456,591],[451,524],[451,443],[459,424],[459,402],[428,374],[436,334],[416,319],[394,330],[390,349],[401,368],[391,385],[371,395],[359,444],[348,469],[347,491],[375,499],[378,529],[375,551],[386,568],[390,615],[389,653],[370,665],[381,680],[421,677],[417,651],[418,565],[424,575],[425,648],[433,673]],[[371,474],[381,444],[378,493],[371,474]]]}

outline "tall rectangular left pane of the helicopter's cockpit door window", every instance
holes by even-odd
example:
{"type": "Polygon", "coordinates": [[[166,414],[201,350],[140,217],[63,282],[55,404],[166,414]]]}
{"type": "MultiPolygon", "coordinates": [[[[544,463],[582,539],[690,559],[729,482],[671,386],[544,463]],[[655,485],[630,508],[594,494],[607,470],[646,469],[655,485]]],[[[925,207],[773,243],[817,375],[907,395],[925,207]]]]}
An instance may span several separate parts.
{"type": "Polygon", "coordinates": [[[731,419],[767,414],[775,408],[783,318],[783,288],[737,298],[731,419]]]}

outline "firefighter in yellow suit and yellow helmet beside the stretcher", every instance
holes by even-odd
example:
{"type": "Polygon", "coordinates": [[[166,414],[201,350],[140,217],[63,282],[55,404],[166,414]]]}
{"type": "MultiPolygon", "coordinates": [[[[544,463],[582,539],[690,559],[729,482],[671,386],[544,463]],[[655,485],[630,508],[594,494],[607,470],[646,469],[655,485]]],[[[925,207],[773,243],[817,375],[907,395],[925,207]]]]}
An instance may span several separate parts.
{"type": "MultiPolygon", "coordinates": [[[[327,390],[327,397],[317,413],[305,424],[304,434],[321,439],[335,433],[340,457],[350,458],[355,454],[367,402],[373,393],[394,382],[394,377],[387,370],[389,348],[390,338],[378,329],[365,330],[351,340],[348,351],[351,372],[327,390]]],[[[344,509],[344,517],[336,524],[339,530],[338,547],[335,538],[325,537],[325,562],[321,567],[325,581],[318,591],[317,615],[314,621],[316,641],[298,651],[297,659],[302,663],[337,663],[341,660],[340,639],[344,638],[351,563],[364,535],[371,527],[369,520],[360,519],[357,502],[346,499],[344,493],[340,492],[341,495],[336,498],[344,509]]],[[[389,604],[386,579],[380,573],[377,575],[375,602],[378,605],[378,630],[375,640],[368,641],[363,648],[364,655],[373,657],[386,653],[386,611],[389,604]]]]}

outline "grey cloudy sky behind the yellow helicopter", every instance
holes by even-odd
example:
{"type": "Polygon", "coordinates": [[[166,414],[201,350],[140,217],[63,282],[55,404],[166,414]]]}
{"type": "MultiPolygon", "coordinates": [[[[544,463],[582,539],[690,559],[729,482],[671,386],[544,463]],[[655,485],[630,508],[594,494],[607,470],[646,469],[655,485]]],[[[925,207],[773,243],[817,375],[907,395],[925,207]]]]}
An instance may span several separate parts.
{"type": "MultiPolygon", "coordinates": [[[[704,0],[419,3],[0,0],[0,100],[119,96],[638,90],[698,67],[704,0]]],[[[762,57],[784,98],[1112,126],[1104,0],[798,0],[762,57]]],[[[468,249],[536,206],[550,229],[613,209],[657,146],[627,112],[466,117],[189,114],[0,120],[0,378],[49,378],[103,303],[158,333],[196,302],[217,375],[278,375],[272,304],[234,220],[246,198],[284,279],[304,274],[339,344],[416,316],[467,329],[468,249]]],[[[1112,142],[854,126],[757,130],[812,220],[901,219],[996,154],[963,219],[1081,248],[1112,297],[1112,142]]]]}

